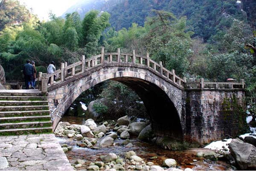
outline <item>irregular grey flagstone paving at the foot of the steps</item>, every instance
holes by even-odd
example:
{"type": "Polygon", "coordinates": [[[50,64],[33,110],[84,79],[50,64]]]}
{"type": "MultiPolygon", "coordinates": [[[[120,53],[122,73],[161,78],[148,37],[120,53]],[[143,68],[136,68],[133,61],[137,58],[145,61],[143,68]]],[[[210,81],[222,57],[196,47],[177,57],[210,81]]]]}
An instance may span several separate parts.
{"type": "Polygon", "coordinates": [[[54,134],[0,136],[1,170],[73,170],[54,134]]]}

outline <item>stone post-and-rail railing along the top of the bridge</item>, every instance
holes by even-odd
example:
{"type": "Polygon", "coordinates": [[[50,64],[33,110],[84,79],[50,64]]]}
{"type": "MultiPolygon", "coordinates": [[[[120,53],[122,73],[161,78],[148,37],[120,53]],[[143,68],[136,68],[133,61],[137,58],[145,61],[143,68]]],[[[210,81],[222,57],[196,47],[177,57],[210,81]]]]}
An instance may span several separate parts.
{"type": "MultiPolygon", "coordinates": [[[[98,65],[106,64],[106,63],[131,63],[131,64],[138,64],[143,65],[145,67],[148,67],[148,69],[153,70],[163,76],[164,78],[168,79],[172,83],[174,83],[177,87],[180,87],[182,89],[184,88],[204,88],[206,82],[202,84],[202,82],[199,83],[186,83],[186,77],[180,78],[179,76],[175,75],[175,70],[169,71],[166,68],[163,67],[162,62],[159,63],[153,61],[149,54],[147,53],[146,56],[137,55],[135,54],[135,50],[132,50],[132,53],[120,53],[120,49],[117,49],[117,52],[104,52],[104,48],[101,50],[101,54],[92,56],[91,58],[85,59],[84,55],[81,56],[81,61],[76,62],[74,64],[67,65],[67,62],[61,63],[61,68],[59,70],[56,70],[52,74],[39,74],[38,80],[39,80],[39,88],[43,93],[47,92],[48,87],[51,87],[53,85],[59,84],[61,82],[64,82],[66,80],[69,80],[70,78],[75,77],[76,75],[80,75],[88,68],[92,68],[98,65]],[[55,81],[54,81],[55,76],[55,81]],[[50,84],[47,85],[48,80],[50,79],[50,84]],[[192,85],[192,86],[191,86],[192,85]]],[[[203,81],[204,78],[201,78],[201,81],[203,81]]],[[[214,84],[216,87],[221,87],[222,83],[211,83],[214,84]],[[219,85],[219,86],[217,86],[219,85]]],[[[224,83],[223,83],[224,84],[224,83]]],[[[225,83],[227,85],[230,85],[230,83],[225,83]]],[[[233,88],[233,85],[240,85],[241,83],[232,83],[229,88],[233,88]]],[[[243,84],[244,87],[244,84],[243,84]]]]}

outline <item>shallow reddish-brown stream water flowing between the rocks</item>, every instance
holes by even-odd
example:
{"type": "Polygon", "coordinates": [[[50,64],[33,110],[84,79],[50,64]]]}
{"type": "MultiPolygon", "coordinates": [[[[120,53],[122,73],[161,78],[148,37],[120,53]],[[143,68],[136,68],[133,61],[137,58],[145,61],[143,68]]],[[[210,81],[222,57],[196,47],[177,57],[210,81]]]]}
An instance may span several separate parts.
{"type": "MultiPolygon", "coordinates": [[[[65,116],[61,121],[70,122],[70,124],[79,124],[82,125],[85,122],[85,119],[72,117],[72,116],[65,116]]],[[[96,145],[93,147],[99,148],[99,142],[101,139],[98,139],[96,145]]],[[[84,159],[86,163],[84,166],[77,168],[77,170],[85,170],[90,162],[102,161],[101,156],[104,156],[108,153],[115,153],[119,157],[125,158],[124,153],[127,151],[134,151],[137,156],[144,159],[145,162],[154,162],[154,164],[162,165],[163,161],[167,158],[172,158],[177,161],[177,166],[181,169],[185,168],[192,168],[193,170],[232,170],[229,164],[223,161],[205,161],[204,158],[196,157],[196,153],[198,149],[186,150],[186,151],[169,151],[164,150],[154,144],[142,142],[137,140],[136,137],[131,137],[131,143],[133,147],[125,148],[125,146],[121,145],[123,142],[122,139],[116,139],[114,142],[116,143],[115,146],[111,146],[108,148],[99,148],[99,149],[92,149],[92,148],[80,148],[76,145],[77,141],[74,141],[73,138],[64,138],[58,137],[59,143],[67,144],[68,146],[73,146],[71,151],[66,152],[67,158],[69,159],[70,163],[73,164],[77,159],[84,159]],[[157,157],[157,159],[150,159],[151,157],[157,157]],[[196,159],[197,162],[193,162],[193,159],[196,159]]],[[[202,149],[202,150],[205,150],[202,149]]],[[[128,165],[126,164],[125,168],[128,165]]]]}

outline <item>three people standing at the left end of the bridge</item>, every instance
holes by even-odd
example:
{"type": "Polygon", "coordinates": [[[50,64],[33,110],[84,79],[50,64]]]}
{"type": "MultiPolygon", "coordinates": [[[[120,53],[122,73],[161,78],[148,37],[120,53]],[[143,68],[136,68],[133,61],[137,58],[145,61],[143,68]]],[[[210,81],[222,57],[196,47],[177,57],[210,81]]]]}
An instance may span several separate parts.
{"type": "MultiPolygon", "coordinates": [[[[52,74],[55,72],[55,66],[54,62],[52,61],[51,64],[47,67],[47,73],[52,74]]],[[[23,75],[25,79],[25,87],[26,89],[29,89],[29,86],[31,86],[32,89],[35,89],[35,78],[36,78],[37,70],[35,68],[35,61],[30,61],[29,59],[26,61],[26,64],[23,67],[23,75]]],[[[56,78],[56,75],[54,75],[54,80],[56,78]]],[[[49,78],[48,84],[50,84],[51,80],[49,78]]]]}

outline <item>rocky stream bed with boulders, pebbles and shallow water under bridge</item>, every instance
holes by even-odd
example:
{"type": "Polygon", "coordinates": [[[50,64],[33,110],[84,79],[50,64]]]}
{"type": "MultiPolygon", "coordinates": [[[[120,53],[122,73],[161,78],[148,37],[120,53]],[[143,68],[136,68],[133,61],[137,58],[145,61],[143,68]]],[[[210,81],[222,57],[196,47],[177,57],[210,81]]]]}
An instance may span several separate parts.
{"type": "MultiPolygon", "coordinates": [[[[163,137],[152,133],[150,122],[133,122],[124,116],[97,125],[87,119],[83,125],[60,122],[55,135],[76,170],[235,170],[222,152],[195,148],[167,151],[163,137]],[[216,152],[216,153],[215,153],[216,152]]],[[[165,139],[166,140],[166,139],[165,139]]],[[[175,144],[175,143],[174,143],[175,144]]],[[[172,147],[171,147],[172,148],[172,147]]]]}

